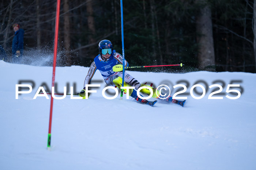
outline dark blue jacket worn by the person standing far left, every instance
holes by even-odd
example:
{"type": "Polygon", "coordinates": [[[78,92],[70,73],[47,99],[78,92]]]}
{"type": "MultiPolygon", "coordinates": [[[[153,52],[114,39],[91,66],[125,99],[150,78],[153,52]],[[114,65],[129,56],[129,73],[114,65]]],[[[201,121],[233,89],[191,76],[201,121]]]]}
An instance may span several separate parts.
{"type": "Polygon", "coordinates": [[[23,37],[24,37],[24,30],[19,29],[18,31],[15,32],[14,38],[12,40],[12,54],[15,54],[17,50],[20,51],[22,54],[23,52],[23,37]]]}

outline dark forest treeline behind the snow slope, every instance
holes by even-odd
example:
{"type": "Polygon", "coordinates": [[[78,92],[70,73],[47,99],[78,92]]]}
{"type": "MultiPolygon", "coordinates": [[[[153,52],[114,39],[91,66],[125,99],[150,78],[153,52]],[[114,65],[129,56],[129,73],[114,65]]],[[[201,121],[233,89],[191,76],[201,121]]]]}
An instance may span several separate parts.
{"type": "MultiPolygon", "coordinates": [[[[25,30],[25,55],[53,50],[56,2],[0,0],[0,10],[0,45],[7,54],[14,23],[25,30]]],[[[256,0],[124,0],[125,58],[130,66],[183,63],[186,71],[255,72],[255,10],[256,0]]],[[[61,0],[63,66],[89,66],[102,39],[121,53],[120,12],[120,0],[61,0]]]]}

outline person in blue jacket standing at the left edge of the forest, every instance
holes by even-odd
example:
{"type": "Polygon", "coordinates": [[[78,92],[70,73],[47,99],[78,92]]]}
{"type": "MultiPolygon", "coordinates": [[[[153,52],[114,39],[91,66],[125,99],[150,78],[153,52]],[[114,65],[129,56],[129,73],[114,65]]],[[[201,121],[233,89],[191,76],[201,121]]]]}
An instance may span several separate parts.
{"type": "Polygon", "coordinates": [[[13,24],[12,27],[15,32],[12,40],[12,62],[20,63],[23,55],[24,30],[20,28],[19,24],[13,24]]]}

